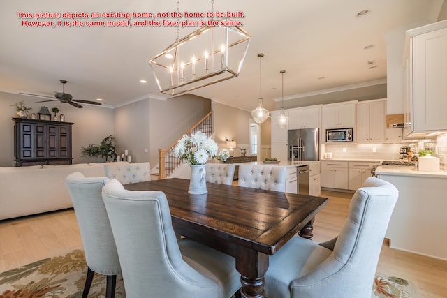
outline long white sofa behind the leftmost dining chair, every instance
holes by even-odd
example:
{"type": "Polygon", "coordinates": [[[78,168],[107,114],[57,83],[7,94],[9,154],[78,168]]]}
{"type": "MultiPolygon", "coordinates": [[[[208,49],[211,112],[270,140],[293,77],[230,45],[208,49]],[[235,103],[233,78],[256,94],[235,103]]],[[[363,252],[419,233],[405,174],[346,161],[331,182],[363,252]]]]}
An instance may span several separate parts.
{"type": "Polygon", "coordinates": [[[103,163],[0,167],[0,220],[73,207],[65,186],[73,172],[105,177],[103,163]]]}

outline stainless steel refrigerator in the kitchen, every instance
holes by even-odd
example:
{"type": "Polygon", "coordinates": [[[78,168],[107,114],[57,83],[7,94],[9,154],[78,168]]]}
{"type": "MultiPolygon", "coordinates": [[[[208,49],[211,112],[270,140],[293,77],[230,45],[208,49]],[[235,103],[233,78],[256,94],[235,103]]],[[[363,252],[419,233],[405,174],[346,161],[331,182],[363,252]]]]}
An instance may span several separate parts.
{"type": "Polygon", "coordinates": [[[289,161],[319,161],[318,128],[289,129],[287,134],[289,161]]]}

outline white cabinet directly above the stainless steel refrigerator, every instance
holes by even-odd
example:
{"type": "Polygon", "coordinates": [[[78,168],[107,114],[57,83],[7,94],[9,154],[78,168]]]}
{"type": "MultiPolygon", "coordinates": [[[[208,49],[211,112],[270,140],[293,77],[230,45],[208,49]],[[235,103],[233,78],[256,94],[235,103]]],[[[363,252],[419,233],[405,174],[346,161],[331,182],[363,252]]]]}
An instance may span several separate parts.
{"type": "Polygon", "coordinates": [[[288,129],[320,127],[321,105],[298,107],[288,111],[288,129]]]}

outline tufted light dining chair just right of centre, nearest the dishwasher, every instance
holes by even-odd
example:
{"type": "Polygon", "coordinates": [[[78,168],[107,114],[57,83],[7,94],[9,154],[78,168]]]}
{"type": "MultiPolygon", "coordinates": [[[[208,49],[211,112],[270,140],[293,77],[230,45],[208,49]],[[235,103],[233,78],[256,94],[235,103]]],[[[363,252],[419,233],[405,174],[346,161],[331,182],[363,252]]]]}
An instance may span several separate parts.
{"type": "Polygon", "coordinates": [[[286,167],[277,165],[239,165],[238,186],[267,191],[286,191],[286,167]]]}

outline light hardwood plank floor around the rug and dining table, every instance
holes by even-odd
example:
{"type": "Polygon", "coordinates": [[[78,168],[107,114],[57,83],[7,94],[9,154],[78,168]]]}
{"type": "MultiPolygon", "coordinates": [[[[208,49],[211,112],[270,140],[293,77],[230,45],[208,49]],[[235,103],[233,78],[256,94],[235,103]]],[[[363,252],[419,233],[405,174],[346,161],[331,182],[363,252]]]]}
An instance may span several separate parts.
{"type": "MultiPolygon", "coordinates": [[[[337,236],[352,196],[330,191],[321,195],[330,200],[314,223],[318,242],[337,236]]],[[[74,249],[82,249],[82,241],[72,209],[0,221],[0,272],[74,249]]],[[[390,249],[386,240],[377,271],[412,281],[421,298],[447,297],[447,261],[390,249]]]]}

